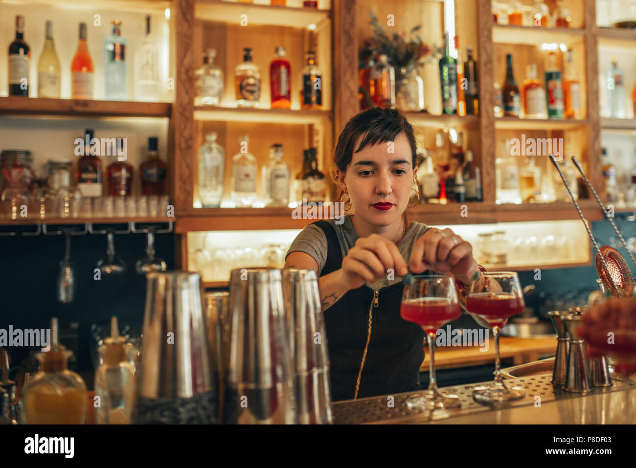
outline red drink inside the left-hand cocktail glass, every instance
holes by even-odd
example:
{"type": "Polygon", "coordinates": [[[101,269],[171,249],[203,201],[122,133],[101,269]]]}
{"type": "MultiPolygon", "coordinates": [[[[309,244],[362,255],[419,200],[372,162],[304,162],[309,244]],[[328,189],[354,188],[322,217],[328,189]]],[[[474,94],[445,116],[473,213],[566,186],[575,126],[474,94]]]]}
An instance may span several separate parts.
{"type": "Polygon", "coordinates": [[[462,313],[459,304],[446,298],[418,298],[403,301],[400,315],[408,322],[415,322],[424,331],[436,333],[439,328],[462,313]]]}

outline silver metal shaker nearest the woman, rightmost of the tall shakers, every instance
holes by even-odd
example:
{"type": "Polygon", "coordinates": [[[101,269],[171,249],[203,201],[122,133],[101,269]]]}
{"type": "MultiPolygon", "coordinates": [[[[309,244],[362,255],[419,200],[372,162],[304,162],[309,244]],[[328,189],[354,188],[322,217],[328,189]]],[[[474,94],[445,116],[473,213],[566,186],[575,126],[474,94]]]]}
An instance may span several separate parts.
{"type": "Polygon", "coordinates": [[[329,353],[318,279],[313,270],[281,270],[287,333],[295,371],[296,411],[301,424],[333,422],[329,353]]]}

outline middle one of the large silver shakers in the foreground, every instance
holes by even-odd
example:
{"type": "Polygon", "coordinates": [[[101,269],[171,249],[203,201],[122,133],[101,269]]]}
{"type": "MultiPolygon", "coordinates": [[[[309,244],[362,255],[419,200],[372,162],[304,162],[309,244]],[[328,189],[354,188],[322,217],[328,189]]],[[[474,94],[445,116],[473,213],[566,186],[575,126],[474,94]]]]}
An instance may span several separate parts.
{"type": "Polygon", "coordinates": [[[280,270],[230,273],[230,359],[223,422],[296,422],[280,270]]]}

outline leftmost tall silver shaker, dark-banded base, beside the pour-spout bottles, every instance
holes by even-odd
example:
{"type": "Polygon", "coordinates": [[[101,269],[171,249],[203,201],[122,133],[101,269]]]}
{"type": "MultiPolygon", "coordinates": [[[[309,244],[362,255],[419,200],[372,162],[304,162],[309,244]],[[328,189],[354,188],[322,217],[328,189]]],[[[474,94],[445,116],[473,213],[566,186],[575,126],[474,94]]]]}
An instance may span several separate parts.
{"type": "Polygon", "coordinates": [[[201,275],[146,275],[137,423],[215,423],[201,275]]]}

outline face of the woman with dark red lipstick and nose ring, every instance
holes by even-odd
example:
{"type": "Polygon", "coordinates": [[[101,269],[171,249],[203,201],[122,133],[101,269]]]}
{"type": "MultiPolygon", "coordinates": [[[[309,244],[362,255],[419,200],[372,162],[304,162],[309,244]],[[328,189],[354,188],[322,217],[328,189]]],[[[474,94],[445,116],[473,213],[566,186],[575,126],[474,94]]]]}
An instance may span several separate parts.
{"type": "Polygon", "coordinates": [[[340,187],[349,191],[356,216],[375,226],[395,223],[406,210],[413,187],[411,146],[406,135],[398,134],[393,142],[365,146],[353,154],[345,174],[338,171],[338,175],[342,176],[338,177],[340,187]]]}

